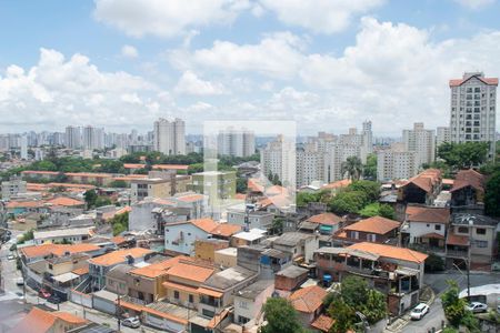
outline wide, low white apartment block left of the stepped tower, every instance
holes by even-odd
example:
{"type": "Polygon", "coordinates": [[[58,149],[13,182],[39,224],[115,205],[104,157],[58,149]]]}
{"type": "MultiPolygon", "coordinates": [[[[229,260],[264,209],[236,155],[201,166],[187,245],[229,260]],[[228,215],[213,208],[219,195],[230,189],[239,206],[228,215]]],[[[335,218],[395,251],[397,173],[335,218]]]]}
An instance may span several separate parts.
{"type": "Polygon", "coordinates": [[[377,180],[410,179],[417,173],[417,152],[392,149],[377,152],[377,180]]]}

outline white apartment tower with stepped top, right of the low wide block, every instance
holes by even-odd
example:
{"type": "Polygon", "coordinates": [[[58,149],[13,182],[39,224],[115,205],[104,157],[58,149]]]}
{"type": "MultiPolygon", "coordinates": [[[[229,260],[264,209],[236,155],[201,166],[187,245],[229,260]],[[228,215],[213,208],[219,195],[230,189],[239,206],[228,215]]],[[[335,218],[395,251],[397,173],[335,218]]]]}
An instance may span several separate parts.
{"type": "Polygon", "coordinates": [[[412,130],[403,130],[402,138],[406,151],[416,152],[416,163],[420,168],[423,163],[436,160],[434,131],[426,130],[423,122],[416,122],[412,130]]]}

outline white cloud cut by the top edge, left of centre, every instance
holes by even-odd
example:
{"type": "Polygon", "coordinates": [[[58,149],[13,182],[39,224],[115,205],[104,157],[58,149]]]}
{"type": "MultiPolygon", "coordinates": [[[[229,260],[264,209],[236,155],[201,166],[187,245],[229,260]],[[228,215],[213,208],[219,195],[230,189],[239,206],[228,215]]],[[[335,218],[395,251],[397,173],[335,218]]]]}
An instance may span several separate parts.
{"type": "Polygon", "coordinates": [[[129,36],[173,37],[191,27],[227,24],[248,0],[96,0],[94,18],[129,36]]]}

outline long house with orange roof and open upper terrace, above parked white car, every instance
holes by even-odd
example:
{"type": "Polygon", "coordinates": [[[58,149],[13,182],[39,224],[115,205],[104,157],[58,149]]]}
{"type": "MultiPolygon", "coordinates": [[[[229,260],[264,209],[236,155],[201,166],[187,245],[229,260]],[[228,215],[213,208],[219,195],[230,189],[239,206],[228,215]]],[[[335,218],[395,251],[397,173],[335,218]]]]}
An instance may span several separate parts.
{"type": "Polygon", "coordinates": [[[370,242],[316,251],[317,271],[323,283],[360,276],[387,295],[389,312],[394,315],[419,302],[427,256],[410,249],[370,242]]]}

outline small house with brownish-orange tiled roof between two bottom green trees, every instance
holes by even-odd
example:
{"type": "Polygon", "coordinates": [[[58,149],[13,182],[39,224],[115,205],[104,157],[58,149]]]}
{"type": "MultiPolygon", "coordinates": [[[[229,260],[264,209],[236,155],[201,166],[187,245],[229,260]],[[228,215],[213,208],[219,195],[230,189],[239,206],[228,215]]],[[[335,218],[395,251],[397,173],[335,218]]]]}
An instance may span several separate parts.
{"type": "Polygon", "coordinates": [[[299,313],[302,326],[308,327],[320,315],[327,294],[324,289],[311,285],[299,289],[289,296],[292,306],[299,313]]]}

